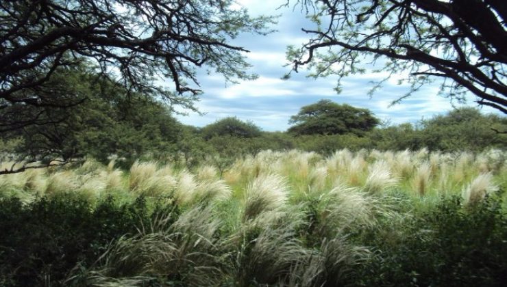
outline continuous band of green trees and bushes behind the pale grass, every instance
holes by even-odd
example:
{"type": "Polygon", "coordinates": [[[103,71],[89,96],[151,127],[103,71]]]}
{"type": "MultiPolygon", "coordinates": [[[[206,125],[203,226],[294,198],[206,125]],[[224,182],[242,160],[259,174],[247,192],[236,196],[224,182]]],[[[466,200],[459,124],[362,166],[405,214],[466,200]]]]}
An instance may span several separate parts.
{"type": "Polygon", "coordinates": [[[449,152],[507,146],[507,119],[473,108],[417,124],[380,125],[367,109],[320,100],[301,107],[286,132],[262,131],[234,117],[197,128],[178,122],[164,100],[129,92],[86,67],[56,72],[51,81],[60,87],[51,90],[55,96],[71,95],[82,102],[61,109],[25,108],[23,113],[16,106],[4,108],[3,114],[12,115],[16,124],[3,127],[3,161],[49,163],[91,156],[107,163],[116,156],[125,168],[143,158],[188,167],[212,161],[221,168],[237,156],[267,149],[330,154],[342,148],[449,152]],[[23,126],[23,118],[38,122],[23,126]]]}

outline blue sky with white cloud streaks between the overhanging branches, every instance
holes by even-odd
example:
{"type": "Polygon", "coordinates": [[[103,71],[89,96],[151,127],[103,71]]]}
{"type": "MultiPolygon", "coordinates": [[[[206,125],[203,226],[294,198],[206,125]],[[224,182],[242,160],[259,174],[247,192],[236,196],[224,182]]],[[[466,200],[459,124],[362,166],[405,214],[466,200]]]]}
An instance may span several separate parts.
{"type": "MultiPolygon", "coordinates": [[[[291,115],[297,114],[299,109],[321,99],[329,99],[338,104],[348,104],[354,107],[371,110],[377,118],[390,124],[417,122],[421,119],[432,118],[437,114],[446,113],[457,103],[438,96],[439,85],[434,83],[422,87],[418,92],[406,98],[401,104],[391,106],[391,102],[408,92],[408,85],[398,85],[396,77],[388,80],[382,88],[370,98],[369,90],[373,86],[371,81],[382,79],[382,74],[353,74],[342,79],[342,92],[337,94],[336,77],[309,78],[308,71],[302,69],[292,74],[288,80],[281,78],[290,71],[285,58],[286,46],[292,44],[300,46],[308,40],[308,36],[301,31],[303,27],[312,27],[299,9],[281,8],[286,0],[240,0],[241,5],[249,10],[249,14],[256,16],[281,15],[277,20],[274,33],[268,36],[253,36],[242,34],[232,41],[232,44],[243,46],[250,53],[245,53],[249,64],[253,65],[249,72],[258,74],[254,81],[240,81],[238,84],[225,83],[219,74],[198,72],[200,96],[196,107],[204,113],[188,113],[178,115],[177,119],[184,124],[206,126],[222,118],[234,116],[244,121],[251,121],[264,131],[286,131],[291,115]]],[[[469,105],[476,106],[473,98],[469,105]]],[[[495,112],[489,107],[482,108],[486,113],[495,112]]]]}

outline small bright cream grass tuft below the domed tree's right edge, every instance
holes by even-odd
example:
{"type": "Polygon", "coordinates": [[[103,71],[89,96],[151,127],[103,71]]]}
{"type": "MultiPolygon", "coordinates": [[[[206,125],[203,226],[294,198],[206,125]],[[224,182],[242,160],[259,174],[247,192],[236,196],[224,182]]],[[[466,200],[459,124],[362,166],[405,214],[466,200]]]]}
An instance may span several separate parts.
{"type": "Polygon", "coordinates": [[[394,178],[389,169],[389,165],[384,160],[375,161],[369,166],[369,174],[362,189],[368,193],[380,193],[388,187],[397,184],[397,178],[394,178]]]}

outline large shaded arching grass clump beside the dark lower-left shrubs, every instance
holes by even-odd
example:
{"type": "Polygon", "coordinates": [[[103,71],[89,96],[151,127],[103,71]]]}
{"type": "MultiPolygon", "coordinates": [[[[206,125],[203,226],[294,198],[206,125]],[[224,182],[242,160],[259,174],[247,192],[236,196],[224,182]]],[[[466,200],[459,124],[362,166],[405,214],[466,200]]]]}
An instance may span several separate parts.
{"type": "Polygon", "coordinates": [[[149,230],[123,236],[90,274],[104,283],[163,277],[183,286],[217,286],[225,268],[215,255],[219,221],[212,215],[210,206],[195,206],[173,223],[173,214],[160,217],[149,230]]]}

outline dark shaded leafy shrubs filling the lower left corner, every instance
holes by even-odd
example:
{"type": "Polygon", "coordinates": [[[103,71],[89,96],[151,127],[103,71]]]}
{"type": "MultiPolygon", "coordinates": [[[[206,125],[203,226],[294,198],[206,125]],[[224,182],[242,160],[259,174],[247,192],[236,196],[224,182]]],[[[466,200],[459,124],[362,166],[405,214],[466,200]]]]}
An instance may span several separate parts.
{"type": "Polygon", "coordinates": [[[77,263],[90,266],[112,241],[167,210],[173,206],[149,207],[143,197],[127,204],[108,197],[95,208],[70,195],[27,205],[0,199],[0,285],[63,286],[77,263]]]}

